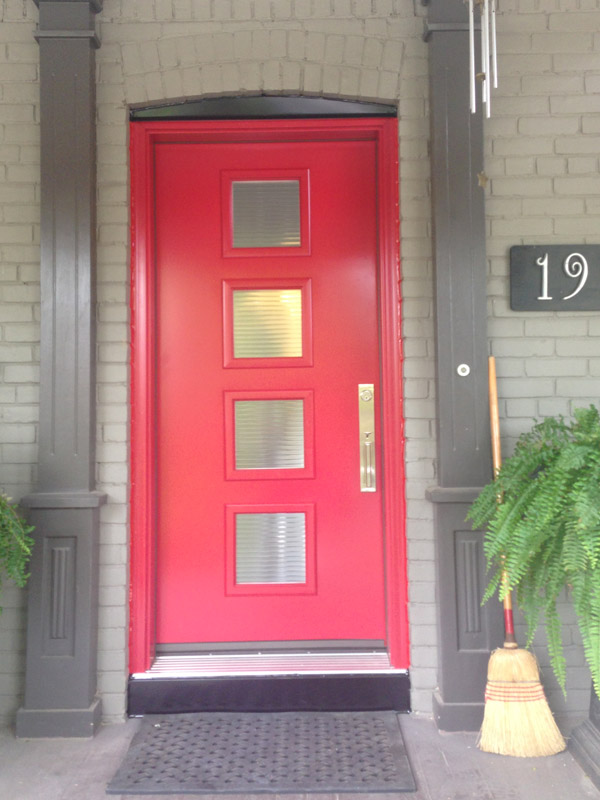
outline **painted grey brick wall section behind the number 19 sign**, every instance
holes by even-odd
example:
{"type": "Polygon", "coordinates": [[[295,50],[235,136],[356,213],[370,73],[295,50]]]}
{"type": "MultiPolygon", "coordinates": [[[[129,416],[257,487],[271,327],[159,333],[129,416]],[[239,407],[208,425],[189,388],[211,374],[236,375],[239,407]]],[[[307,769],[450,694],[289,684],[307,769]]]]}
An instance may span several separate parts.
{"type": "MultiPolygon", "coordinates": [[[[516,313],[508,302],[511,245],[600,243],[600,3],[501,5],[502,78],[486,124],[485,170],[488,330],[509,453],[533,418],[600,403],[599,313],[516,313]]],[[[553,710],[573,714],[589,703],[590,678],[567,598],[562,616],[566,700],[541,633],[535,650],[553,710]]],[[[522,629],[517,635],[523,641],[522,629]]]]}

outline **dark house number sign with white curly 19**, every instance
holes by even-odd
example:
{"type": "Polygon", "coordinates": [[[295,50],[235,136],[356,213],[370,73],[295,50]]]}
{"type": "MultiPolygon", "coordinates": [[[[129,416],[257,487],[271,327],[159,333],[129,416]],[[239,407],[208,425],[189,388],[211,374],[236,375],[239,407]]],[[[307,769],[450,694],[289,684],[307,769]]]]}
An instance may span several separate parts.
{"type": "Polygon", "coordinates": [[[600,245],[510,249],[513,311],[599,311],[600,245]]]}

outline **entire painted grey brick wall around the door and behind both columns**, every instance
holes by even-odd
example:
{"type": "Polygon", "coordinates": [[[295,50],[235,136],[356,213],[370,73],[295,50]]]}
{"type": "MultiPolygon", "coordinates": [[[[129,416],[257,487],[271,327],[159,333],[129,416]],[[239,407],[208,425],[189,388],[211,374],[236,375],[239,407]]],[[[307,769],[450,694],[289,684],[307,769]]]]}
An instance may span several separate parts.
{"type": "MultiPolygon", "coordinates": [[[[598,0],[501,0],[501,86],[486,124],[490,349],[498,358],[505,452],[534,416],[600,397],[597,315],[515,314],[512,244],[598,241],[598,0]],[[574,13],[576,12],[576,13],[574,13]],[[594,238],[596,237],[596,238],[594,238]]],[[[437,680],[432,508],[435,411],[427,45],[418,0],[105,0],[98,69],[98,481],[102,509],[99,686],[122,719],[128,581],[127,106],[239,93],[396,100],[404,295],[413,707],[437,680]]],[[[35,483],[38,231],[37,10],[0,0],[0,486],[35,483]]],[[[482,266],[483,268],[483,266],[482,266]]],[[[23,597],[0,618],[0,722],[18,705],[23,597]]],[[[564,614],[571,619],[570,607],[564,614]]],[[[572,626],[569,697],[589,693],[572,626]]],[[[544,659],[543,648],[538,650],[544,659]]]]}

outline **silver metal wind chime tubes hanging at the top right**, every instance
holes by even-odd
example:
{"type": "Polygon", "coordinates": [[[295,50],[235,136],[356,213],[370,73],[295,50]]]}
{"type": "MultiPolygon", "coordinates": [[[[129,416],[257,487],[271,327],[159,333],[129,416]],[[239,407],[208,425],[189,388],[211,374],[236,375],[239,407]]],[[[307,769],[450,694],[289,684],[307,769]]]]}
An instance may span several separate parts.
{"type": "Polygon", "coordinates": [[[477,81],[481,81],[481,102],[489,118],[492,108],[492,85],[498,88],[498,58],[496,51],[497,0],[468,0],[469,4],[469,72],[471,113],[477,111],[477,81]],[[481,13],[481,69],[475,68],[475,6],[481,13]]]}

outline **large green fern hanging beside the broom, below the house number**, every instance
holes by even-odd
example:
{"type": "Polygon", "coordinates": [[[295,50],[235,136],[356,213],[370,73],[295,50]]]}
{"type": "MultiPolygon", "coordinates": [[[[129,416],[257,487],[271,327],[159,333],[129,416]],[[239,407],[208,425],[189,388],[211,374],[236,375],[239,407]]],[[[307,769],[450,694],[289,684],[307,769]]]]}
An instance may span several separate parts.
{"type": "Polygon", "coordinates": [[[496,479],[469,510],[484,528],[490,583],[484,602],[515,591],[530,645],[540,618],[565,691],[566,664],[557,601],[568,588],[596,692],[600,693],[600,415],[549,417],[519,438],[496,479]],[[503,584],[503,570],[508,582],[503,584]]]}

